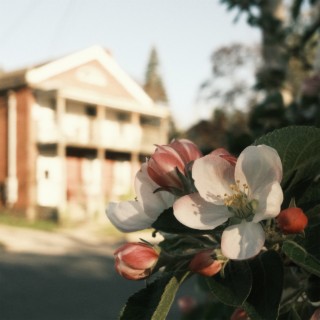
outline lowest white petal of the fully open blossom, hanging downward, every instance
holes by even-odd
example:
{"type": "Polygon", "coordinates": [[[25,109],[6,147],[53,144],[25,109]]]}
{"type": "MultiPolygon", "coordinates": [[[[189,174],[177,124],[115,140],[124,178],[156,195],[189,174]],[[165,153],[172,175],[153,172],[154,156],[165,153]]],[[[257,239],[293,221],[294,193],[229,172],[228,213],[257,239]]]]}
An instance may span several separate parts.
{"type": "Polygon", "coordinates": [[[243,220],[223,231],[221,251],[229,259],[244,260],[257,255],[264,241],[265,234],[261,225],[243,220]]]}

